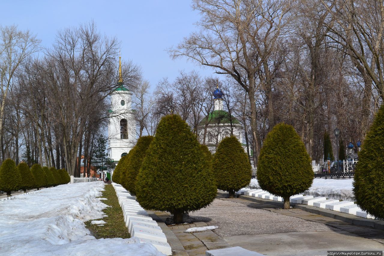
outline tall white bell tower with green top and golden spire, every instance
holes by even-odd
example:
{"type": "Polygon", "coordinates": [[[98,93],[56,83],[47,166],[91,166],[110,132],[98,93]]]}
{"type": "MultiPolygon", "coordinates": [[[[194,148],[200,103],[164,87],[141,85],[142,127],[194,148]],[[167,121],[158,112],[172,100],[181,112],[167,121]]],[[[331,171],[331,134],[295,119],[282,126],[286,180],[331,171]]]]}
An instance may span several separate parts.
{"type": "Polygon", "coordinates": [[[136,121],[132,110],[132,93],[123,86],[119,57],[119,87],[111,93],[108,125],[108,157],[118,162],[136,143],[136,121]]]}

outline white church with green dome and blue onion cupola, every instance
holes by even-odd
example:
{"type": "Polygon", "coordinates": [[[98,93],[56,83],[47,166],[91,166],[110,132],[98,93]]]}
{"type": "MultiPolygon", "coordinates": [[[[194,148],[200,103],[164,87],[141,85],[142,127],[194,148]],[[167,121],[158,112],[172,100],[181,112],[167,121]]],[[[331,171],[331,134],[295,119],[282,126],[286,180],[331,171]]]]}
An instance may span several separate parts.
{"type": "Polygon", "coordinates": [[[243,142],[243,127],[237,118],[223,110],[224,93],[218,86],[213,92],[213,96],[214,110],[200,121],[197,131],[200,144],[207,145],[211,153],[216,152],[217,146],[223,138],[231,136],[231,131],[240,143],[243,142]]]}

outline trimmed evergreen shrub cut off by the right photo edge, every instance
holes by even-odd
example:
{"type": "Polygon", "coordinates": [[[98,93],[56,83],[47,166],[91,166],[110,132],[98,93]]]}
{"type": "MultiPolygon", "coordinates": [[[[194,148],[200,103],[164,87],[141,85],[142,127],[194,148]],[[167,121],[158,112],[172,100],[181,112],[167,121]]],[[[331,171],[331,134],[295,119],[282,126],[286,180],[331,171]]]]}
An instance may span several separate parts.
{"type": "Polygon", "coordinates": [[[361,146],[356,166],[353,192],[361,209],[384,219],[384,104],[361,146]]]}

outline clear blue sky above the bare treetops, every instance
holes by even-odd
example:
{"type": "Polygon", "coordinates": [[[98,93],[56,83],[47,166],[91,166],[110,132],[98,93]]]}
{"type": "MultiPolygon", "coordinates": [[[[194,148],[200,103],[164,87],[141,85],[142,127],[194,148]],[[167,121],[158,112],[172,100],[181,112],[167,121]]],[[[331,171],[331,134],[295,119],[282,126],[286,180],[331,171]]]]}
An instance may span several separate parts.
{"type": "Polygon", "coordinates": [[[141,65],[153,89],[162,77],[172,81],[179,70],[213,75],[213,70],[200,68],[185,58],[171,60],[165,51],[197,30],[194,23],[199,13],[190,4],[189,0],[2,1],[0,25],[29,29],[42,40],[43,47],[49,47],[59,29],[94,20],[101,33],[121,41],[122,59],[141,65]]]}

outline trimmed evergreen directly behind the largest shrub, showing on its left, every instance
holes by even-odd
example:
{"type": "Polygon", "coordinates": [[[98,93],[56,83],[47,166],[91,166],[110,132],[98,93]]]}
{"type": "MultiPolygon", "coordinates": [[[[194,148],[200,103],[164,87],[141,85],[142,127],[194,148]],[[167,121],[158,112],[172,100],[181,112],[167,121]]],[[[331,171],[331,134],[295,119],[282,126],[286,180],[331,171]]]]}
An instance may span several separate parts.
{"type": "Polygon", "coordinates": [[[131,194],[136,194],[136,177],[153,138],[153,136],[140,137],[122,166],[121,185],[131,194]]]}

